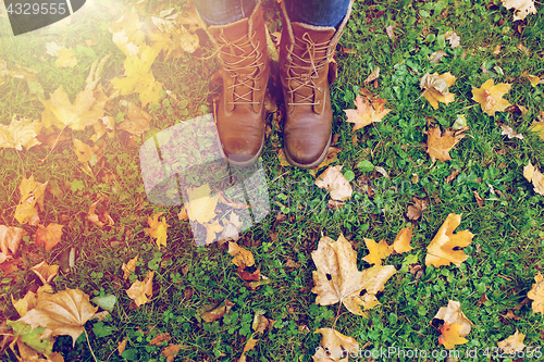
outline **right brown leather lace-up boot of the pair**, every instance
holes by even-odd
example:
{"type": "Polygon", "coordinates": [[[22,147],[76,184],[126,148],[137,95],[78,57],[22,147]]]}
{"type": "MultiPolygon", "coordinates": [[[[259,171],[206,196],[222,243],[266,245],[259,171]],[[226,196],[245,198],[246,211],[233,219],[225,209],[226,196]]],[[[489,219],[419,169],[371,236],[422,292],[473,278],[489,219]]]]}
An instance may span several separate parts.
{"type": "Polygon", "coordinates": [[[318,166],[331,145],[333,113],[330,85],[336,79],[331,63],[351,7],[335,27],[292,23],[285,3],[280,41],[280,76],[287,114],[283,128],[287,161],[300,168],[318,166]]]}

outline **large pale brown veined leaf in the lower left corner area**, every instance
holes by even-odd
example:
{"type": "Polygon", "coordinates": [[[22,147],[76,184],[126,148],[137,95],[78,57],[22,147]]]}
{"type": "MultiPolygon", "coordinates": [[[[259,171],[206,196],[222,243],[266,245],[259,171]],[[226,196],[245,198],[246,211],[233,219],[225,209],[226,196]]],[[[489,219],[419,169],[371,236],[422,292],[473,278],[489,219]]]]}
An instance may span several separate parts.
{"type": "Polygon", "coordinates": [[[17,321],[33,328],[41,326],[52,330],[53,336],[67,335],[75,340],[84,332],[85,323],[95,315],[98,307],[92,307],[89,296],[79,289],[66,289],[53,295],[41,294],[35,309],[17,321]]]}

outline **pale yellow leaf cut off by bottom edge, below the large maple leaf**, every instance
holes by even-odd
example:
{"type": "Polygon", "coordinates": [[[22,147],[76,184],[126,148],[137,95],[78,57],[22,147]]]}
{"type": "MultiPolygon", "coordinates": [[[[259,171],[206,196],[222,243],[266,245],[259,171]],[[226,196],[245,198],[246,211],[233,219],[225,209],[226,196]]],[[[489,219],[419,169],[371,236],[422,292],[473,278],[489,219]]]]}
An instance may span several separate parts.
{"type": "Polygon", "coordinates": [[[359,351],[359,344],[351,337],[345,336],[333,328],[319,328],[314,332],[321,334],[320,347],[312,355],[314,362],[347,362],[347,353],[359,351]]]}

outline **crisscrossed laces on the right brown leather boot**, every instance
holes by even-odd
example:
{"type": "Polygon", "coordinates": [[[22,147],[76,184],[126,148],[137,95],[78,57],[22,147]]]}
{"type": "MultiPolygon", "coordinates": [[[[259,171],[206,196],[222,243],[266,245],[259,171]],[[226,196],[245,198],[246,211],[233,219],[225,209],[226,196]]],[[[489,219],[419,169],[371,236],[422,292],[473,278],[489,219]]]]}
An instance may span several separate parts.
{"type": "Polygon", "coordinates": [[[290,95],[292,102],[287,105],[320,105],[321,101],[313,102],[313,95],[316,90],[322,92],[323,89],[316,85],[314,79],[319,78],[319,72],[323,70],[327,62],[326,52],[330,46],[330,41],[314,42],[308,33],[305,33],[302,38],[295,38],[295,45],[293,50],[287,47],[287,53],[292,57],[293,62],[290,64],[285,64],[288,66],[287,75],[285,79],[289,85],[288,92],[290,95]],[[300,45],[301,43],[301,45],[300,45]],[[295,53],[295,48],[304,49],[301,55],[295,53]],[[306,48],[306,49],[305,49],[306,48]],[[316,57],[316,53],[323,52],[324,55],[316,57]],[[300,70],[300,74],[295,72],[294,67],[300,70]],[[290,80],[295,80],[297,84],[293,86],[290,80]],[[311,93],[304,96],[299,90],[304,88],[310,88],[311,93]],[[295,98],[295,95],[298,97],[295,98]],[[297,99],[296,101],[294,101],[297,99]]]}

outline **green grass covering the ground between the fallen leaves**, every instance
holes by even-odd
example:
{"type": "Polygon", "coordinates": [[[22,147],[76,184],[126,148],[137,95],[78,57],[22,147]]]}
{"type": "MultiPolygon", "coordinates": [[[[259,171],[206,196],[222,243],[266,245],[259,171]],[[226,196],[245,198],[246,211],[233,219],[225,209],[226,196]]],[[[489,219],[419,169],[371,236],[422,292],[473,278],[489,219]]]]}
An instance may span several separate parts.
{"type": "MultiPolygon", "coordinates": [[[[276,26],[274,2],[269,0],[265,5],[267,13],[275,16],[273,26],[276,26]]],[[[181,9],[184,5],[185,2],[178,4],[181,9]]],[[[107,1],[95,7],[99,11],[88,17],[75,17],[66,25],[69,33],[63,27],[53,27],[20,37],[11,36],[3,14],[0,59],[8,61],[10,68],[20,64],[37,71],[46,98],[62,85],[73,101],[85,87],[90,64],[111,53],[101,79],[106,87],[109,79],[123,74],[125,58],[112,42],[108,26],[127,8],[107,1]],[[85,40],[89,38],[97,40],[97,45],[87,47],[85,40]],[[54,66],[54,58],[45,51],[48,41],[76,49],[76,67],[54,66]]],[[[169,9],[164,1],[152,1],[146,7],[151,14],[158,9],[169,9]]],[[[409,254],[423,266],[421,277],[416,279],[408,271],[404,264],[406,254],[390,257],[385,264],[394,265],[397,273],[379,294],[382,304],[371,310],[368,319],[345,313],[342,308],[336,322],[338,332],[354,337],[369,352],[381,347],[444,351],[444,347],[438,346],[440,332],[430,322],[440,307],[448,300],[457,300],[474,326],[467,336],[468,344],[456,349],[479,348],[478,360],[489,361],[482,351],[489,348],[491,353],[497,341],[516,329],[526,335],[527,346],[540,347],[544,317],[531,310],[526,297],[534,275],[544,266],[544,204],[542,196],[523,178],[522,170],[529,161],[544,168],[541,162],[544,142],[528,132],[544,110],[544,86],[531,87],[527,79],[519,77],[523,71],[544,75],[541,41],[544,8],[542,3],[536,8],[537,14],[529,15],[523,22],[512,22],[511,11],[497,1],[355,2],[341,43],[356,53],[337,54],[338,79],[332,87],[337,118],[334,133],[341,135],[335,147],[343,148],[336,164],[344,165],[344,174],[353,174],[354,196],[341,210],[329,209],[329,196],[313,186],[313,176],[307,171],[280,166],[276,154],[281,134],[276,130],[262,154],[271,214],[238,240],[254,252],[261,273],[272,279],[257,291],[243,286],[236,266],[231,263],[232,257],[224,249],[218,245],[199,248],[194,245],[188,223],[177,219],[180,207],[158,207],[146,200],[138,160],[140,139],[121,130],[116,130],[113,139],[106,138],[103,157],[91,167],[91,174],[82,168],[71,141],[61,142],[52,151],[48,147],[21,152],[0,150],[3,186],[0,188],[0,224],[24,227],[28,232],[17,252],[23,258],[18,271],[0,274],[2,315],[16,320],[10,296],[22,298],[40,283],[29,270],[32,266],[44,259],[51,264],[59,263],[75,248],[75,267],[57,276],[52,285],[57,291],[79,288],[91,297],[116,296],[118,303],[104,322],[86,324],[90,346],[101,361],[122,361],[115,349],[124,338],[127,339],[126,358],[164,361],[165,358],[160,357],[162,347],[149,341],[166,332],[173,338],[171,342],[182,347],[176,361],[236,360],[252,333],[251,323],[258,310],[264,310],[265,316],[276,323],[259,337],[261,340],[255,350],[247,353],[250,360],[311,361],[321,338],[313,332],[332,327],[338,308],[337,304],[316,304],[316,295],[310,291],[316,270],[310,253],[320,237],[336,239],[344,234],[357,246],[358,267],[362,270],[370,266],[362,261],[368,253],[363,238],[385,238],[391,244],[401,227],[413,226],[415,250],[409,254]],[[522,34],[518,30],[520,23],[522,34]],[[395,41],[386,34],[388,25],[397,25],[395,41]],[[448,30],[459,35],[460,47],[450,49],[447,41],[443,42],[442,36],[448,30]],[[519,42],[528,48],[531,57],[518,48],[519,42]],[[493,53],[496,46],[500,46],[498,54],[493,53]],[[431,64],[429,55],[437,50],[445,51],[447,57],[438,64],[431,64]],[[489,70],[487,74],[483,73],[482,64],[489,70]],[[376,66],[380,67],[378,88],[372,85],[368,88],[385,99],[392,112],[375,126],[358,130],[359,142],[354,146],[353,125],[345,122],[343,110],[354,108],[359,88],[376,66]],[[433,72],[450,72],[457,77],[450,88],[456,101],[448,105],[441,103],[438,110],[420,98],[419,79],[433,72]],[[491,117],[482,112],[471,99],[471,90],[490,77],[495,84],[512,84],[505,98],[512,104],[523,105],[528,110],[524,116],[497,112],[491,117]],[[450,151],[452,161],[433,164],[421,147],[426,141],[428,125],[448,128],[459,114],[467,117],[470,126],[467,137],[450,151]],[[498,122],[522,133],[524,139],[500,135],[498,122]],[[375,172],[361,172],[357,167],[361,160],[384,167],[391,178],[385,179],[375,172]],[[450,184],[445,183],[454,170],[459,170],[459,175],[450,184]],[[40,223],[65,225],[62,242],[50,252],[34,246],[37,227],[18,225],[13,219],[20,198],[17,186],[23,176],[30,174],[50,185],[40,223]],[[416,184],[411,182],[413,174],[419,179],[416,184]],[[373,197],[366,192],[368,179],[375,185],[373,197]],[[485,200],[483,207],[478,205],[474,191],[485,200]],[[88,209],[99,196],[108,198],[106,207],[115,221],[112,227],[99,228],[87,221],[88,209]],[[406,210],[413,197],[424,198],[429,208],[418,223],[410,224],[406,210]],[[147,217],[158,212],[164,212],[171,225],[168,247],[160,251],[145,232],[147,217]],[[280,212],[287,220],[276,223],[280,212]],[[449,213],[462,213],[458,229],[475,234],[472,245],[465,248],[469,259],[460,267],[425,267],[426,246],[449,213]],[[156,271],[153,297],[139,309],[131,308],[121,271],[121,264],[136,254],[139,261],[129,282],[141,280],[148,270],[156,271]],[[292,261],[299,266],[286,266],[292,261]],[[489,300],[479,304],[483,294],[489,300]],[[202,307],[224,299],[235,303],[225,317],[213,323],[197,317],[202,307]],[[503,317],[508,310],[515,310],[520,319],[503,317]]],[[[160,104],[150,105],[152,130],[144,138],[178,120],[195,117],[211,109],[218,87],[210,85],[209,79],[218,63],[202,59],[211,54],[212,49],[206,34],[199,33],[199,36],[203,49],[197,54],[178,60],[164,60],[161,55],[156,60],[152,67],[156,79],[175,93],[180,102],[164,97],[160,104]]],[[[26,82],[13,77],[4,80],[0,84],[0,123],[9,124],[15,113],[39,118],[44,105],[36,96],[29,95],[26,82]]],[[[124,98],[138,104],[136,95],[124,98]]],[[[108,109],[112,116],[120,112],[116,103],[108,109]]],[[[73,137],[89,143],[91,135],[91,127],[72,132],[73,137]]],[[[92,361],[84,334],[75,347],[70,337],[58,337],[53,350],[62,352],[66,361],[92,361]]],[[[15,359],[11,351],[5,353],[7,359],[15,359]]]]}

